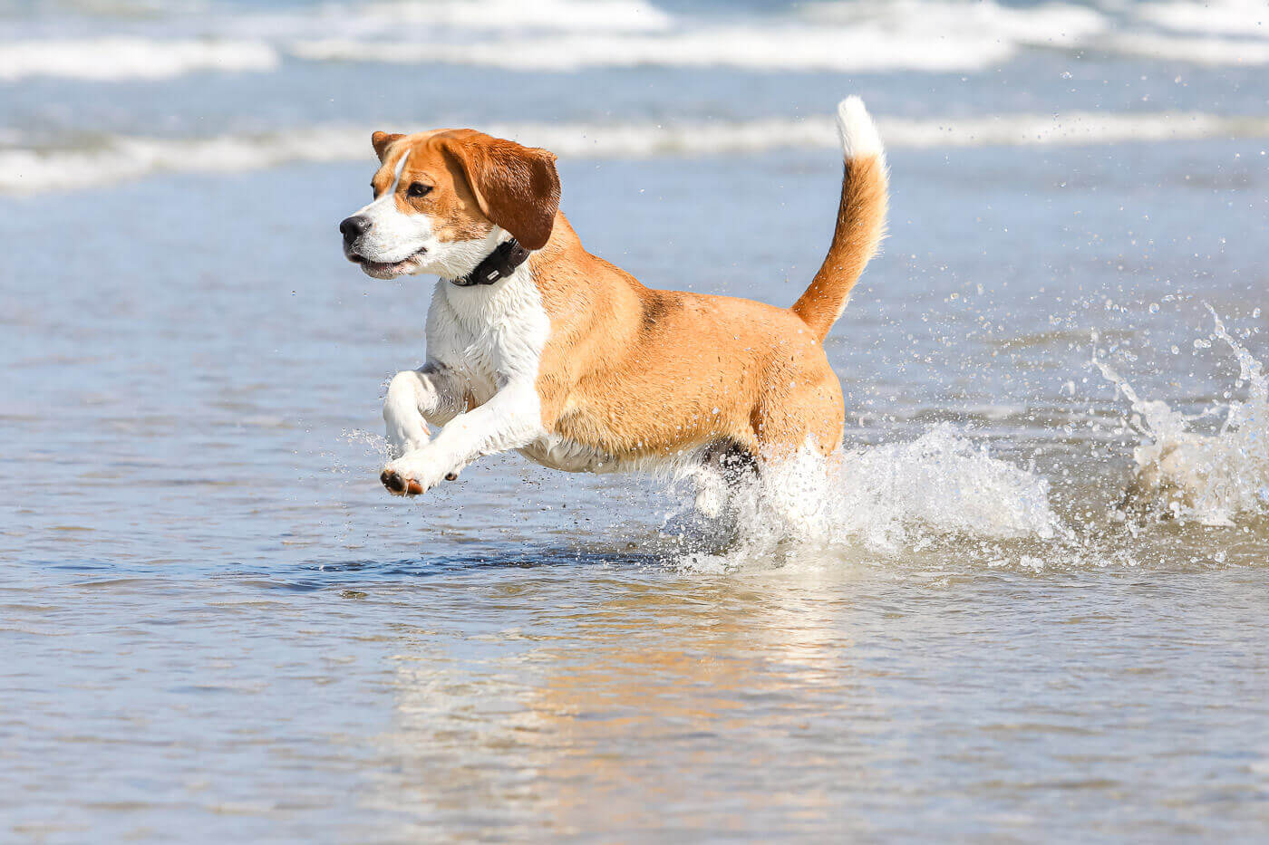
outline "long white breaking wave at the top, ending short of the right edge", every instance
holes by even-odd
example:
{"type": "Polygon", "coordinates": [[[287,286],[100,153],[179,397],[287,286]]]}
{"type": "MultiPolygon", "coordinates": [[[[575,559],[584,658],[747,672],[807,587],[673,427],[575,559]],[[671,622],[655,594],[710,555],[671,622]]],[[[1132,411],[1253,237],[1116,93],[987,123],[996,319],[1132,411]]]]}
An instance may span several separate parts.
{"type": "Polygon", "coordinates": [[[288,51],[310,61],[440,62],[509,70],[584,67],[739,67],[786,71],[978,70],[1019,47],[1075,46],[1108,27],[1086,6],[1015,9],[996,3],[830,3],[793,16],[717,25],[669,20],[659,32],[506,34],[494,41],[364,37],[296,39],[288,51]]]}

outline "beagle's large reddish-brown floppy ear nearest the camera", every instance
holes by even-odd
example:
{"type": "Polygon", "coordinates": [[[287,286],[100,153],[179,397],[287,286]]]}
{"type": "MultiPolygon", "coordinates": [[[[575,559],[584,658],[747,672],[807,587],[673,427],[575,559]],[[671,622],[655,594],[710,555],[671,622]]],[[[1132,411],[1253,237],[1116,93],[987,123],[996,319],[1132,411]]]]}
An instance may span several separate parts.
{"type": "Polygon", "coordinates": [[[560,209],[553,152],[472,133],[443,138],[442,150],[463,171],[480,211],[524,249],[546,246],[560,209]]]}

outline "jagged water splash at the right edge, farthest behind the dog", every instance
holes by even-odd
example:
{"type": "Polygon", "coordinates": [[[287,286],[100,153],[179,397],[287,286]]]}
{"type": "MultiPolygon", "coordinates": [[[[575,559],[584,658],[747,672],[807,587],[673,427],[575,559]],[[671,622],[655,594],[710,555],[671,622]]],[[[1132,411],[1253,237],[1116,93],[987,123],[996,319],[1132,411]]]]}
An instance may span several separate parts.
{"type": "Polygon", "coordinates": [[[1143,400],[1126,378],[1098,359],[1095,349],[1093,364],[1138,415],[1132,425],[1142,440],[1133,449],[1136,467],[1126,505],[1161,509],[1173,518],[1204,525],[1233,525],[1239,515],[1269,510],[1269,378],[1263,364],[1230,335],[1212,306],[1206,307],[1214,321],[1211,337],[1233,350],[1239,386],[1247,386],[1247,401],[1231,400],[1214,434],[1194,430],[1198,416],[1185,416],[1160,400],[1143,400]]]}

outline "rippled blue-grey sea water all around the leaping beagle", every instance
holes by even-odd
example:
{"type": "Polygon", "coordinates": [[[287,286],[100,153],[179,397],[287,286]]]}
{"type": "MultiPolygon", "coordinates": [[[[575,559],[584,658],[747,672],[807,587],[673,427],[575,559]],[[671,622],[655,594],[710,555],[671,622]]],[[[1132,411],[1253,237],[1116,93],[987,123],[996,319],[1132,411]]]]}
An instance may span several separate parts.
{"type": "MultiPolygon", "coordinates": [[[[813,38],[770,4],[622,4],[605,37],[646,61],[563,70],[302,58],[311,9],[230,6],[0,18],[277,56],[113,81],[0,60],[4,839],[1264,831],[1269,131],[1244,6],[1060,6],[1074,47],[1018,34],[1052,10],[991,6],[1006,49],[962,33],[949,70],[693,67],[648,36],[774,15],[813,38]],[[893,200],[826,341],[827,475],[773,475],[718,523],[669,480],[515,455],[383,492],[379,400],[423,360],[431,282],[339,255],[371,129],[580,133],[563,208],[590,250],[789,303],[840,179],[816,122],[853,91],[891,122],[893,200]]],[[[383,8],[325,14],[373,39],[383,8]]],[[[884,6],[815,14],[860,10],[925,43],[884,6]]]]}

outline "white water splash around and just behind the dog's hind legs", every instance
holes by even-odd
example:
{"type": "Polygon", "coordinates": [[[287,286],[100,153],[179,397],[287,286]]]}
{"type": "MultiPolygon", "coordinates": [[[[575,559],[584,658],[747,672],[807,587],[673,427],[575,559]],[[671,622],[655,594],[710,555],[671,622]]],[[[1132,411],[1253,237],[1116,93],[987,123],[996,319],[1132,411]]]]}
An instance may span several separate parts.
{"type": "Polygon", "coordinates": [[[1070,535],[1048,492],[1042,476],[942,424],[906,443],[827,459],[807,450],[769,464],[732,490],[721,520],[676,515],[680,537],[694,528],[716,543],[708,551],[680,548],[676,563],[726,571],[826,548],[890,556],[940,538],[1048,542],[1070,535]]]}

